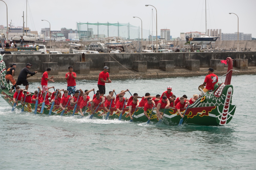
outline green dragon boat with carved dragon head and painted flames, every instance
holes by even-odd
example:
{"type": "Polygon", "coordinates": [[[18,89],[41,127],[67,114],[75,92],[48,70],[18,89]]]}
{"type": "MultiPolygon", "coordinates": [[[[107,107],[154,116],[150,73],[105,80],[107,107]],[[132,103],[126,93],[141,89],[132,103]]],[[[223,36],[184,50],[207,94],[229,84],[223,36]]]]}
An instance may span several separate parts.
{"type": "MultiPolygon", "coordinates": [[[[217,82],[214,86],[214,90],[208,91],[204,96],[199,97],[193,104],[190,104],[187,111],[186,108],[180,110],[183,114],[185,112],[185,117],[183,118],[183,124],[197,124],[197,125],[205,125],[205,126],[219,126],[226,125],[232,119],[234,112],[236,110],[236,105],[232,104],[232,94],[233,94],[233,86],[230,84],[231,76],[232,76],[232,68],[233,63],[232,59],[228,57],[225,62],[228,63],[228,71],[226,74],[226,80],[224,83],[217,82]]],[[[0,94],[2,98],[13,107],[13,94],[8,93],[11,88],[11,83],[7,83],[5,79],[5,62],[3,61],[2,55],[0,55],[0,66],[1,66],[1,89],[0,94]]],[[[41,105],[38,105],[35,108],[35,104],[26,103],[24,111],[34,113],[35,109],[37,110],[36,114],[40,114],[41,109],[44,109],[42,114],[49,114],[51,105],[45,105],[44,108],[41,108],[41,105]]],[[[16,109],[21,110],[22,104],[18,101],[18,105],[16,109]]],[[[63,116],[72,115],[74,110],[74,106],[67,106],[63,116]]],[[[108,119],[118,119],[120,116],[120,112],[116,111],[116,108],[111,108],[111,112],[109,114],[108,119]]],[[[129,109],[124,108],[124,112],[122,115],[122,120],[130,121],[129,109]]],[[[84,116],[89,116],[93,113],[90,107],[83,108],[84,116]]],[[[148,119],[144,115],[144,110],[142,108],[132,109],[132,114],[134,114],[133,121],[134,122],[147,122],[148,119]]],[[[161,109],[164,112],[164,109],[161,109]]],[[[54,105],[51,115],[61,115],[62,109],[58,105],[54,105]]],[[[105,119],[106,111],[103,107],[99,107],[95,113],[94,117],[97,119],[105,119]]],[[[156,110],[149,109],[147,110],[148,116],[151,116],[151,122],[158,122],[159,118],[156,114],[156,110]]],[[[77,106],[75,115],[79,115],[80,108],[77,106]]],[[[166,109],[163,116],[163,123],[168,125],[178,125],[181,117],[179,116],[177,109],[169,108],[166,109]]]]}

